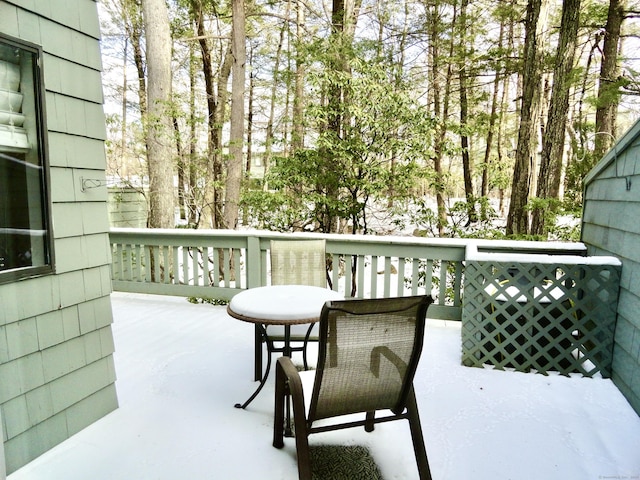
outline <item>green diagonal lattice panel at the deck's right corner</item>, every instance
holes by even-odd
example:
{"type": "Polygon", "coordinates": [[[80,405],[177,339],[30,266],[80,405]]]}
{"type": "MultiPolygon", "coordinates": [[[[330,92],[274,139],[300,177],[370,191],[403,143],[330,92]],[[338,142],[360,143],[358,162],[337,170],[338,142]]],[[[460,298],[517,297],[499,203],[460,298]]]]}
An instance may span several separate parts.
{"type": "Polygon", "coordinates": [[[614,265],[468,261],[462,363],[611,375],[614,265]]]}

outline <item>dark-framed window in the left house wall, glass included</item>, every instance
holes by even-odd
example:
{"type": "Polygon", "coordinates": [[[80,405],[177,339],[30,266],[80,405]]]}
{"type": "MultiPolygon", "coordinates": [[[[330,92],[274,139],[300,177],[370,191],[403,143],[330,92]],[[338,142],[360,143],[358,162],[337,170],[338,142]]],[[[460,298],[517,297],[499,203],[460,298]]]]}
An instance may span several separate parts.
{"type": "Polygon", "coordinates": [[[0,36],[0,282],[52,271],[41,50],[0,36]]]}

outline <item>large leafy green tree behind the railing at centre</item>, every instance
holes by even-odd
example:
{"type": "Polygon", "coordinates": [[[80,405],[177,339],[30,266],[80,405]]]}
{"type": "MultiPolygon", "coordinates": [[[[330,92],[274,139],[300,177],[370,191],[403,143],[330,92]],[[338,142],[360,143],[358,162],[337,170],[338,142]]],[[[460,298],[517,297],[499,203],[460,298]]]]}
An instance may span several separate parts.
{"type": "Polygon", "coordinates": [[[319,67],[309,75],[318,101],[307,109],[320,132],[316,146],[278,158],[267,178],[279,205],[296,205],[305,227],[329,232],[341,219],[366,233],[371,202],[406,198],[428,175],[434,122],[409,85],[390,77],[388,64],[367,60],[365,47],[323,41],[307,49],[319,67]],[[336,59],[347,58],[348,70],[339,68],[336,59]],[[321,101],[336,92],[339,102],[321,101]]]}

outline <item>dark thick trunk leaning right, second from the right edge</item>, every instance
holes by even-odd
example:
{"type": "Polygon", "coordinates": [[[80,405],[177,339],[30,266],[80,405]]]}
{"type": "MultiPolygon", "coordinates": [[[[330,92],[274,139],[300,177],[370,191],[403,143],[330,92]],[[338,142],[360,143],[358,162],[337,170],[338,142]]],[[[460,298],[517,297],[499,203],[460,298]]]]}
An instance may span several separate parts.
{"type": "MultiPolygon", "coordinates": [[[[553,71],[553,89],[547,124],[542,138],[542,155],[538,174],[536,196],[543,199],[559,199],[562,157],[564,154],[565,125],[569,111],[569,92],[575,58],[580,0],[565,0],[562,4],[560,38],[553,71]]],[[[545,205],[546,208],[553,208],[545,205]]],[[[544,235],[547,226],[544,211],[536,209],[531,219],[531,233],[544,235]]]]}

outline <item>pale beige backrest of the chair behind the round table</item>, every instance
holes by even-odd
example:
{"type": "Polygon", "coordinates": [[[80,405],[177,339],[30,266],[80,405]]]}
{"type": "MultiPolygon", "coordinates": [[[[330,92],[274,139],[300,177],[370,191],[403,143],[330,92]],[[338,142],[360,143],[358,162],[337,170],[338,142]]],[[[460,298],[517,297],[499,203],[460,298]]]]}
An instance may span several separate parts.
{"type": "Polygon", "coordinates": [[[324,240],[272,240],[271,284],[327,286],[324,240]]]}

